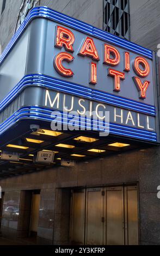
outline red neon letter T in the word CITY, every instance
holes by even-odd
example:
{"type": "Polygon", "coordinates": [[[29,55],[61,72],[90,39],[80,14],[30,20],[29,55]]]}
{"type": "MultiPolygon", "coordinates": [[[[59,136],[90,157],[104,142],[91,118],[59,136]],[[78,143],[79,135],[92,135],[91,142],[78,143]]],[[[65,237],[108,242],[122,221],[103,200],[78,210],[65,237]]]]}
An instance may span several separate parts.
{"type": "Polygon", "coordinates": [[[108,76],[114,77],[113,90],[115,92],[119,92],[120,91],[120,79],[121,80],[125,79],[125,73],[114,70],[114,69],[108,69],[108,76]]]}

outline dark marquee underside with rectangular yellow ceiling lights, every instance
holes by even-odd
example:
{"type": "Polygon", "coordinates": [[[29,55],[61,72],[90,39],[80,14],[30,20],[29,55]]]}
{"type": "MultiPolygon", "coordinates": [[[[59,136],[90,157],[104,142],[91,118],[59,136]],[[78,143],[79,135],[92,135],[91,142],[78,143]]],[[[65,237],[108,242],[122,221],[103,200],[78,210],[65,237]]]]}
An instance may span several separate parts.
{"type": "MultiPolygon", "coordinates": [[[[48,168],[55,168],[58,166],[60,167],[60,159],[75,160],[76,162],[83,161],[87,164],[88,160],[95,159],[95,157],[98,157],[100,160],[103,157],[115,154],[119,155],[120,157],[123,152],[131,149],[144,149],[145,147],[149,147],[149,145],[151,147],[151,143],[142,143],[139,141],[133,141],[132,139],[126,139],[118,136],[109,135],[107,137],[99,137],[99,133],[97,132],[67,131],[66,133],[64,133],[63,131],[57,131],[59,133],[61,132],[61,134],[58,136],[51,136],[45,134],[43,135],[43,129],[51,131],[50,123],[39,120],[22,120],[19,121],[19,123],[15,124],[13,127],[11,127],[10,130],[6,131],[5,133],[3,133],[3,135],[1,135],[1,151],[11,150],[20,153],[21,156],[19,162],[8,160],[0,161],[0,179],[7,178],[9,176],[17,176],[20,174],[38,172],[40,170],[45,170],[48,168]],[[30,129],[30,124],[40,125],[41,133],[33,132],[30,129]],[[91,141],[90,138],[92,138],[93,142],[86,142],[83,141],[83,139],[75,139],[80,136],[88,138],[88,141],[91,141]],[[36,141],[42,141],[42,143],[28,142],[26,138],[33,140],[35,139],[36,141]],[[128,145],[116,147],[115,143],[122,143],[122,145],[128,145]],[[15,145],[15,148],[7,147],[7,145],[9,144],[15,145]],[[57,147],[56,145],[58,144],[71,145],[72,148],[57,147]],[[19,146],[26,147],[27,149],[20,149],[19,146]],[[100,151],[88,151],[90,149],[96,149],[100,151]],[[47,164],[35,162],[36,154],[40,150],[51,150],[56,152],[54,155],[54,163],[47,164]]],[[[61,167],[63,168],[63,166],[61,167]]]]}

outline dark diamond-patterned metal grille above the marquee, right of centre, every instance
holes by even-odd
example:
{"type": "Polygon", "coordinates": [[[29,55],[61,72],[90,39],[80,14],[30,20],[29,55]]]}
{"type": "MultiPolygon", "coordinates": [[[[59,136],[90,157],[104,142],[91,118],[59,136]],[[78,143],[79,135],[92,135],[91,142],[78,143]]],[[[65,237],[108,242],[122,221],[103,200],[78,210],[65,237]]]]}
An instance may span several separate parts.
{"type": "Polygon", "coordinates": [[[129,0],[103,0],[103,29],[130,40],[129,0]]]}

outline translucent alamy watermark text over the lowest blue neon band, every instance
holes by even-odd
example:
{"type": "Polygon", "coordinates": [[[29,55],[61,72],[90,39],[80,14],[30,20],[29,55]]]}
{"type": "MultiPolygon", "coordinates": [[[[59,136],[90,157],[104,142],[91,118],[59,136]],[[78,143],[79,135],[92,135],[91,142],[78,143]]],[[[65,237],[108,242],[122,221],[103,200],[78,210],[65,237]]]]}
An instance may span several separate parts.
{"type": "Polygon", "coordinates": [[[109,135],[109,111],[53,111],[51,118],[53,131],[99,131],[99,136],[109,135]]]}

